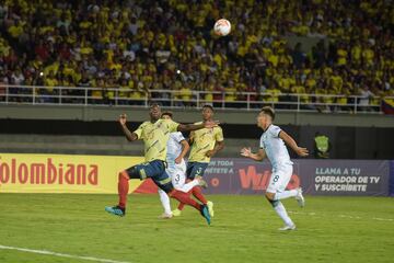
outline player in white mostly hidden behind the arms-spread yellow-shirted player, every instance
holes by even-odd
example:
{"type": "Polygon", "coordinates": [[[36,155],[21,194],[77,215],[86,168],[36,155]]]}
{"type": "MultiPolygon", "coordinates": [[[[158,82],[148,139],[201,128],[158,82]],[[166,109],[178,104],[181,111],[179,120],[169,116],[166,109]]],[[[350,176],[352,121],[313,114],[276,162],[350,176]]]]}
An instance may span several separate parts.
{"type": "MultiPolygon", "coordinates": [[[[164,112],[161,117],[165,119],[172,119],[172,116],[173,115],[171,112],[164,112]]],[[[195,182],[192,184],[190,183],[185,184],[186,162],[184,160],[184,157],[186,156],[190,146],[188,145],[187,140],[182,135],[182,133],[176,132],[170,134],[170,138],[166,147],[167,147],[167,153],[166,153],[167,168],[165,171],[171,176],[174,188],[187,193],[195,186],[195,184],[196,185],[199,184],[202,187],[206,186],[204,180],[200,180],[199,183],[195,182]]],[[[171,210],[169,195],[164,191],[159,188],[159,196],[164,208],[164,213],[160,216],[160,218],[164,218],[164,219],[172,218],[173,214],[171,210]]]]}

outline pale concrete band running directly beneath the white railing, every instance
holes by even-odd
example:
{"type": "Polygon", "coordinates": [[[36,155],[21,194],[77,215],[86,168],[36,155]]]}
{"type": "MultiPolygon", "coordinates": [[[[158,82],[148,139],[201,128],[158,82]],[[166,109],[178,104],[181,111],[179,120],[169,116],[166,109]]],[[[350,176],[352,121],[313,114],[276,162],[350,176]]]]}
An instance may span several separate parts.
{"type": "MultiPolygon", "coordinates": [[[[0,105],[0,119],[72,119],[72,121],[115,121],[126,112],[134,122],[148,117],[147,108],[120,106],[48,106],[48,105],[0,105]]],[[[173,110],[178,122],[200,119],[198,110],[173,110]]],[[[227,124],[255,124],[257,111],[216,111],[216,118],[227,124]]],[[[311,125],[340,127],[394,127],[394,117],[376,114],[324,114],[278,112],[279,125],[311,125]]]]}

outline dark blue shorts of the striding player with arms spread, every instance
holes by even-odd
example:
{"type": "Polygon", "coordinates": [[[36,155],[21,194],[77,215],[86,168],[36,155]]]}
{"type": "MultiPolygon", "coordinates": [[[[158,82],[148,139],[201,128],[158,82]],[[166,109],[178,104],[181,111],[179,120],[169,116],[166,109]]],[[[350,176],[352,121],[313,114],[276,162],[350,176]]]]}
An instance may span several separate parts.
{"type": "Polygon", "coordinates": [[[155,185],[165,193],[174,188],[170,175],[165,172],[165,162],[161,160],[153,160],[130,167],[126,172],[130,179],[137,179],[136,173],[140,180],[152,179],[155,185]]]}

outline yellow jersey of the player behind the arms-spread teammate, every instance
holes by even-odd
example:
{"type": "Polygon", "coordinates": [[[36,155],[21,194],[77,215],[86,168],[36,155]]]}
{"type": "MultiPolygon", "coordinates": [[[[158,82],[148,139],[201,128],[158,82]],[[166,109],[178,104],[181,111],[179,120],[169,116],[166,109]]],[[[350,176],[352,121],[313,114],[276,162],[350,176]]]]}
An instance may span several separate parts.
{"type": "MultiPolygon", "coordinates": [[[[202,124],[202,122],[195,123],[202,124]]],[[[209,162],[210,158],[206,156],[207,151],[215,148],[217,141],[223,141],[223,130],[221,127],[201,128],[190,133],[193,139],[189,162],[209,162]]]]}

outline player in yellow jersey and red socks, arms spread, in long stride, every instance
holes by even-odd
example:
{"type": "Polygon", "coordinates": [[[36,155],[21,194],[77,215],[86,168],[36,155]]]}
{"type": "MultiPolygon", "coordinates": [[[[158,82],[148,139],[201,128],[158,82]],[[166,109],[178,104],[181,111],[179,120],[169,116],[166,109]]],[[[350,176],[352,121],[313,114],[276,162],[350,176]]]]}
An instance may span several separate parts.
{"type": "MultiPolygon", "coordinates": [[[[195,207],[206,218],[207,222],[210,224],[210,216],[208,211],[207,204],[198,204],[196,201],[192,199],[188,194],[177,191],[172,184],[171,178],[165,172],[166,168],[166,145],[170,137],[170,133],[174,132],[190,132],[197,129],[211,129],[217,126],[217,123],[207,119],[200,124],[178,124],[171,119],[161,118],[161,110],[158,104],[153,104],[150,107],[150,121],[142,123],[135,132],[130,132],[126,125],[126,115],[120,115],[119,123],[121,129],[129,141],[135,141],[142,139],[144,142],[144,158],[146,162],[130,167],[118,174],[118,195],[119,203],[116,206],[107,206],[105,210],[116,215],[125,216],[126,215],[126,203],[127,194],[129,191],[130,179],[140,179],[144,180],[151,178],[152,181],[167,195],[172,198],[175,198],[182,203],[195,207]]],[[[197,179],[193,182],[198,185],[198,182],[202,182],[201,179],[197,179]]]]}

